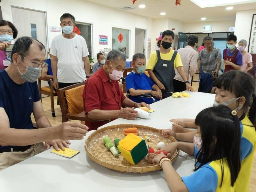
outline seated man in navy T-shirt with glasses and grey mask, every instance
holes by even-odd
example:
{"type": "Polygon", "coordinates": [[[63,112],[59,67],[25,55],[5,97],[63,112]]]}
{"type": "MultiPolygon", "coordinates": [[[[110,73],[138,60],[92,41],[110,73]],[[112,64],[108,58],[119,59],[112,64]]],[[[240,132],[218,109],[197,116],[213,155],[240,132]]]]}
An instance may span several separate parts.
{"type": "Polygon", "coordinates": [[[0,71],[0,171],[51,146],[65,150],[68,140],[83,139],[88,129],[72,122],[52,127],[45,116],[36,83],[47,65],[42,43],[20,37],[11,58],[11,65],[0,71]],[[33,126],[32,112],[41,129],[33,126]]]}

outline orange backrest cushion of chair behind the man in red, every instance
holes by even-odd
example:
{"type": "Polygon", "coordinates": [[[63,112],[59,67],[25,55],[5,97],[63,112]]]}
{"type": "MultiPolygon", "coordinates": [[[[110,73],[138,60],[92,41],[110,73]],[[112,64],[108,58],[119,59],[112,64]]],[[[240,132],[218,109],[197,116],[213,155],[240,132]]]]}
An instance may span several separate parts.
{"type": "Polygon", "coordinates": [[[78,114],[84,111],[83,91],[84,85],[65,91],[69,113],[78,114]]]}

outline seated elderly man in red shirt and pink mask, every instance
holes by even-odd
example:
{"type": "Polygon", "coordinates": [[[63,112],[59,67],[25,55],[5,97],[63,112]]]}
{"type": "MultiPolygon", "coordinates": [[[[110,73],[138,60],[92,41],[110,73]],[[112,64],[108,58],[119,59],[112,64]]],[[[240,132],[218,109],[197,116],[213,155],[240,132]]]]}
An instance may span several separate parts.
{"type": "Polygon", "coordinates": [[[116,118],[133,120],[138,115],[134,108],[150,108],[144,102],[135,103],[126,98],[119,88],[117,80],[123,76],[125,65],[126,55],[113,50],[108,53],[105,65],[87,80],[83,93],[84,112],[90,119],[98,120],[86,122],[89,130],[97,130],[116,118]]]}

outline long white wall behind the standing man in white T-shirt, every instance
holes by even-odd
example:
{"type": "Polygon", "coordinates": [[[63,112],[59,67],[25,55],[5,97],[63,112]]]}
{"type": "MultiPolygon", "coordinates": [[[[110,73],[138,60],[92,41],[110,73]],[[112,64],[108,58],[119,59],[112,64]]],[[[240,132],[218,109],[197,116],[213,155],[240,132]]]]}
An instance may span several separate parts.
{"type": "MultiPolygon", "coordinates": [[[[45,11],[47,14],[47,31],[49,46],[52,43],[53,37],[60,35],[58,32],[50,32],[49,26],[60,26],[60,16],[68,12],[76,18],[76,21],[91,23],[93,29],[93,55],[104,47],[111,48],[111,34],[112,27],[124,28],[131,30],[130,33],[130,51],[129,57],[132,58],[135,46],[135,28],[142,28],[147,30],[147,38],[152,36],[152,19],[131,14],[129,12],[109,8],[92,2],[84,0],[4,0],[0,4],[4,20],[12,21],[11,5],[45,11]],[[99,35],[108,36],[108,45],[99,45],[99,35]]],[[[168,24],[168,23],[167,23],[168,24]]],[[[147,48],[147,43],[146,43],[147,48]]]]}

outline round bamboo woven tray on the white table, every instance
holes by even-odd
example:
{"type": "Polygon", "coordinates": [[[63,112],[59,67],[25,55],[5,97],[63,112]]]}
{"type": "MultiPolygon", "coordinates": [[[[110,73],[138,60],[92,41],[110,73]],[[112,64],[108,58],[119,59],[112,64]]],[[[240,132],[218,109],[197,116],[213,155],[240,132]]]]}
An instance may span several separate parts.
{"type": "MultiPolygon", "coordinates": [[[[115,158],[112,153],[105,147],[103,143],[104,137],[108,136],[114,145],[114,139],[123,139],[125,137],[123,130],[131,127],[138,128],[138,136],[144,138],[146,135],[148,135],[150,138],[152,138],[152,141],[146,141],[146,144],[150,147],[153,147],[155,151],[158,150],[157,143],[160,141],[163,141],[165,144],[176,141],[176,139],[172,136],[169,136],[169,138],[164,138],[161,135],[159,129],[156,128],[136,124],[112,125],[93,132],[85,140],[84,148],[87,155],[94,162],[107,167],[108,169],[113,169],[119,172],[146,173],[160,170],[161,168],[158,166],[158,164],[149,164],[145,159],[136,165],[132,165],[127,162],[121,154],[119,154],[119,157],[115,158]]],[[[179,152],[180,150],[177,149],[173,154],[171,158],[172,163],[178,158],[179,152]]]]}

